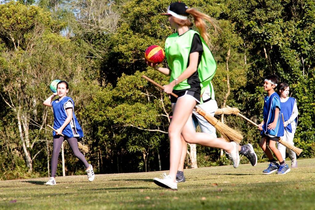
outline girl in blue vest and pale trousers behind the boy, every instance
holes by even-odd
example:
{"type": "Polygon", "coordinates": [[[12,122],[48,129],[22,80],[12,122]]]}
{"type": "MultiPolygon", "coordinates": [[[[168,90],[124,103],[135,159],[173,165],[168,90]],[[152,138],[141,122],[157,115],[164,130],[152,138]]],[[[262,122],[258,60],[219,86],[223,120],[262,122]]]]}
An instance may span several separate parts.
{"type": "MultiPolygon", "coordinates": [[[[278,94],[280,96],[281,113],[284,117],[284,136],[283,140],[294,145],[293,138],[297,125],[297,115],[299,114],[296,99],[289,97],[289,85],[287,83],[281,83],[278,88],[278,94]]],[[[278,144],[278,149],[281,152],[283,159],[285,160],[286,147],[282,144],[278,144]]],[[[296,154],[291,149],[288,149],[288,154],[291,159],[291,168],[297,167],[296,154]]]]}

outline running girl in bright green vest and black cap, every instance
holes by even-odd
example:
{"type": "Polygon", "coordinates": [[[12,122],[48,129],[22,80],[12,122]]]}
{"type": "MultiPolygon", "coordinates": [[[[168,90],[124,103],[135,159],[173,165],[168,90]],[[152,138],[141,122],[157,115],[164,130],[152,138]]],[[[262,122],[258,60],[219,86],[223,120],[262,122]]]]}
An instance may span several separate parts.
{"type": "Polygon", "coordinates": [[[171,3],[167,13],[171,28],[176,33],[165,41],[165,54],[168,68],[147,64],[159,72],[170,75],[170,83],[164,85],[164,92],[175,93],[178,98],[171,96],[173,117],[169,125],[170,140],[170,168],[169,175],[163,174],[163,179],[154,178],[155,184],[177,190],[176,173],[182,153],[180,135],[188,143],[200,144],[208,147],[224,149],[236,168],[239,165],[238,144],[226,142],[207,133],[196,133],[192,125],[192,110],[200,103],[200,95],[209,86],[214,77],[216,62],[208,47],[209,34],[203,21],[208,20],[213,26],[213,19],[185,3],[171,3]],[[191,30],[192,22],[188,16],[192,15],[197,31],[191,30]]]}

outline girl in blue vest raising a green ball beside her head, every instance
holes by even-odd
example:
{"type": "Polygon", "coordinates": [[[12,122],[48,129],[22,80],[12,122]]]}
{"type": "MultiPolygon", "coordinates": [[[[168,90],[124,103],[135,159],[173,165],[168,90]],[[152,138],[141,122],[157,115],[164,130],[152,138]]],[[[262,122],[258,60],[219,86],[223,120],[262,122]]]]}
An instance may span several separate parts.
{"type": "Polygon", "coordinates": [[[60,81],[57,84],[57,92],[49,96],[43,102],[45,106],[53,107],[54,129],[56,129],[56,132],[53,131],[54,142],[53,154],[51,156],[51,177],[49,181],[45,183],[46,185],[56,184],[55,175],[57,171],[58,157],[64,140],[67,140],[69,143],[73,154],[83,162],[89,181],[94,180],[93,167],[86,161],[84,155],[78,148],[77,141],[79,138],[83,137],[83,131],[74,114],[74,102],[72,98],[67,96],[68,91],[68,83],[66,81],[60,81]],[[52,101],[57,95],[59,98],[52,101]],[[61,134],[64,136],[61,136],[61,134]]]}

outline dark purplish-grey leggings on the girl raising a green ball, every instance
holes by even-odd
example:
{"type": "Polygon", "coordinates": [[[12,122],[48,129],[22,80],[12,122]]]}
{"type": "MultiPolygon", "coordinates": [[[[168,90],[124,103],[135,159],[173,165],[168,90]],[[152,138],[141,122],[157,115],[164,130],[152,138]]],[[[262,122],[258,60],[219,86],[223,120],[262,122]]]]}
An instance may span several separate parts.
{"type": "MultiPolygon", "coordinates": [[[[53,155],[51,156],[51,165],[50,165],[51,166],[51,177],[56,176],[60,148],[61,148],[62,143],[65,140],[65,138],[62,136],[54,136],[54,137],[55,137],[54,143],[53,143],[54,149],[53,149],[53,155]]],[[[85,168],[89,168],[88,161],[85,160],[84,155],[79,151],[77,138],[72,137],[72,138],[67,138],[66,140],[69,143],[73,154],[83,162],[85,168]]]]}

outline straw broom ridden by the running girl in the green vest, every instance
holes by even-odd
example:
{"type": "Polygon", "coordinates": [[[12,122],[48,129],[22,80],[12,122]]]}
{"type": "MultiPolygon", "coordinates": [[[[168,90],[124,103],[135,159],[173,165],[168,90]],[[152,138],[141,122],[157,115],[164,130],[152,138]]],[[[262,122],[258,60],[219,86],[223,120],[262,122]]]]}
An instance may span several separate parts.
{"type": "MultiPolygon", "coordinates": [[[[157,84],[156,82],[154,82],[152,79],[148,78],[147,76],[142,75],[142,77],[144,79],[148,80],[149,82],[151,82],[153,85],[158,86],[162,90],[164,89],[162,85],[157,84]]],[[[171,95],[176,97],[176,98],[178,97],[174,93],[171,93],[171,95]]],[[[221,121],[218,121],[215,117],[211,116],[210,114],[207,114],[203,109],[201,109],[197,106],[195,106],[194,109],[198,114],[202,115],[204,117],[204,119],[206,119],[211,125],[213,125],[215,127],[215,129],[219,133],[222,134],[222,136],[226,139],[226,141],[228,141],[228,142],[235,141],[237,143],[240,143],[241,140],[243,139],[242,134],[233,130],[229,126],[223,124],[221,121]]]]}

